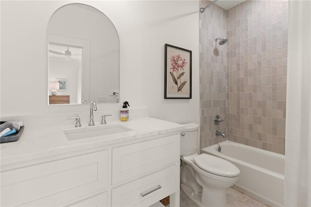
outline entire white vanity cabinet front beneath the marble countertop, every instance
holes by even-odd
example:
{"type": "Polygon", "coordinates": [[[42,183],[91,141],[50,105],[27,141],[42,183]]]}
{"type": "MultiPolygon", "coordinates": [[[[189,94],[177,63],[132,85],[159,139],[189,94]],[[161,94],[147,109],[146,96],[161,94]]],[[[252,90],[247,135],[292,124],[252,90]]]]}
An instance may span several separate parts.
{"type": "Polygon", "coordinates": [[[1,206],[148,207],[171,195],[177,207],[179,148],[176,131],[5,166],[1,206]]]}

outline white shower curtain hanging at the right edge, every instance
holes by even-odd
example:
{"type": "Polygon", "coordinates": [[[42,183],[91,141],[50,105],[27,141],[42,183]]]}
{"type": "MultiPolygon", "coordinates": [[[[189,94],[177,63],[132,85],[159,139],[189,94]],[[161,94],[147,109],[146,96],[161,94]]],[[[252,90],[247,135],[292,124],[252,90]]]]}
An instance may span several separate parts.
{"type": "Polygon", "coordinates": [[[311,207],[311,1],[289,1],[285,207],[311,207]]]}

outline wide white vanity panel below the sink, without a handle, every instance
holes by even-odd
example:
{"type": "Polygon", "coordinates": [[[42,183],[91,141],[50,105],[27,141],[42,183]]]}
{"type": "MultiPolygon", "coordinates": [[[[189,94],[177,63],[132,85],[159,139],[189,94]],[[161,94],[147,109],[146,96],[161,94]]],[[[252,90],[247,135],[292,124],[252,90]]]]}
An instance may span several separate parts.
{"type": "Polygon", "coordinates": [[[1,172],[1,206],[58,206],[107,187],[107,150],[1,172]]]}

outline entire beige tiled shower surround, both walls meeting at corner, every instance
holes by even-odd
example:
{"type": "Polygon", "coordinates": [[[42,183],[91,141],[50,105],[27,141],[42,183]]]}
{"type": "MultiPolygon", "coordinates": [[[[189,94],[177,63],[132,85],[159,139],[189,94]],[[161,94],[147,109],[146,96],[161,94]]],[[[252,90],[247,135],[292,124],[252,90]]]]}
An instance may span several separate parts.
{"type": "MultiPolygon", "coordinates": [[[[210,1],[201,1],[205,7],[210,1]]],[[[229,140],[284,154],[287,0],[247,0],[200,14],[201,148],[229,140]],[[217,46],[215,37],[227,37],[217,46]],[[214,125],[219,114],[226,122],[214,125]]]]}

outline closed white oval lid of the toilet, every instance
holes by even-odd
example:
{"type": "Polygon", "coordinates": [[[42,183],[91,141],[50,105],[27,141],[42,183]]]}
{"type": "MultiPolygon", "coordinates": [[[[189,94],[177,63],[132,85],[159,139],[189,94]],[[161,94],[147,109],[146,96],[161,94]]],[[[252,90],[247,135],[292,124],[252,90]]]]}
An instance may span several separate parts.
{"type": "Polygon", "coordinates": [[[224,177],[236,177],[240,174],[239,168],[234,164],[217,156],[201,154],[193,157],[193,160],[199,168],[208,173],[224,177]]]}

